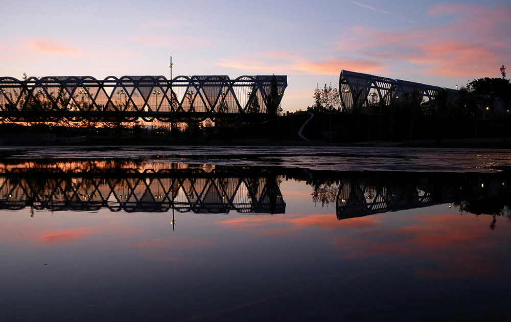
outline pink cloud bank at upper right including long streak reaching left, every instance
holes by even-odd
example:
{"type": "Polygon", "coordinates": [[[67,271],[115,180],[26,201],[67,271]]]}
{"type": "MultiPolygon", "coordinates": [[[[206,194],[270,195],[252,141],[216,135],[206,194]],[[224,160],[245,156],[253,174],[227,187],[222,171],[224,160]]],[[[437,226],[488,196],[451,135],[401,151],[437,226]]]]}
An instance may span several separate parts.
{"type": "Polygon", "coordinates": [[[344,69],[383,76],[403,72],[465,79],[498,76],[511,52],[511,7],[439,5],[427,13],[431,18],[447,16],[448,21],[404,30],[355,26],[338,40],[334,55],[315,59],[275,51],[216,64],[291,75],[338,75],[344,69]]]}

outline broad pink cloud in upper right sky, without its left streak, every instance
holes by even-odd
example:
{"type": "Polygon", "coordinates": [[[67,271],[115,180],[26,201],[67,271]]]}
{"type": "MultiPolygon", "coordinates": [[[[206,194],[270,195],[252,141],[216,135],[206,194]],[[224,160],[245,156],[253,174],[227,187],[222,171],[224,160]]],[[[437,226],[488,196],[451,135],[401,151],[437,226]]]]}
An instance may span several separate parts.
{"type": "Polygon", "coordinates": [[[429,28],[354,27],[339,40],[338,49],[352,49],[394,72],[405,62],[425,75],[498,76],[511,51],[511,7],[439,5],[428,13],[453,17],[446,25],[429,28]]]}

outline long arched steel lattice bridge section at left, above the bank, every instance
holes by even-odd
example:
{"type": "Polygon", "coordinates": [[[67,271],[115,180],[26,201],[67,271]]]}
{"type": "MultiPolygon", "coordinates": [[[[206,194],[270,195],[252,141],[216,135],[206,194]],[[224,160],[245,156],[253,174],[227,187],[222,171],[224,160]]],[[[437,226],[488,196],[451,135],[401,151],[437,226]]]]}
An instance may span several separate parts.
{"type": "Polygon", "coordinates": [[[0,120],[187,122],[266,119],[287,76],[109,76],[0,78],[0,120]]]}

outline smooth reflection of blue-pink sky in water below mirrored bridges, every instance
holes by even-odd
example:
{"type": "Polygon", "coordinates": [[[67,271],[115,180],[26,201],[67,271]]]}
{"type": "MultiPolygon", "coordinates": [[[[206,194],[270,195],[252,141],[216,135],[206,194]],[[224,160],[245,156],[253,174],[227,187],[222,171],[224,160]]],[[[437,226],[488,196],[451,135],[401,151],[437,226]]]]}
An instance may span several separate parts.
{"type": "Polygon", "coordinates": [[[279,187],[285,213],[175,212],[175,226],[171,210],[0,211],[0,320],[508,316],[506,218],[492,230],[439,204],[338,220],[307,180],[279,187]]]}

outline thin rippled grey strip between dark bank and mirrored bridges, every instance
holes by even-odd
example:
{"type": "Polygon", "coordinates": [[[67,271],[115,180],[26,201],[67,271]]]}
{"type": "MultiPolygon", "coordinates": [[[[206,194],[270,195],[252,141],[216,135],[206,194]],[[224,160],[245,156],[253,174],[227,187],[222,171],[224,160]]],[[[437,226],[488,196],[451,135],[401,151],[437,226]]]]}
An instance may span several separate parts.
{"type": "Polygon", "coordinates": [[[180,163],[282,166],[335,171],[492,172],[511,166],[511,151],[491,149],[355,147],[20,147],[9,159],[124,158],[180,163]]]}

